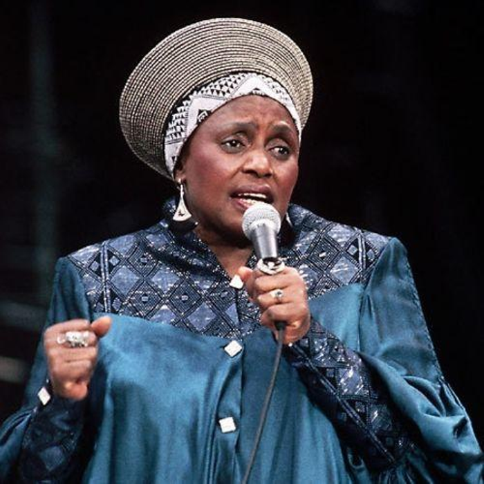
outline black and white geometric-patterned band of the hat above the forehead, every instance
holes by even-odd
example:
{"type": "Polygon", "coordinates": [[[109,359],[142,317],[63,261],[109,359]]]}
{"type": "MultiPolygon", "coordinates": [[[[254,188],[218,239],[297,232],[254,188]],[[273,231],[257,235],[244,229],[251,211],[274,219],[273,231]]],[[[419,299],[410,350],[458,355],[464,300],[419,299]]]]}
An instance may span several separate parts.
{"type": "Polygon", "coordinates": [[[198,87],[176,106],[165,132],[165,160],[171,177],[180,151],[194,129],[216,109],[244,95],[268,96],[282,104],[294,120],[299,139],[301,121],[288,91],[267,75],[235,73],[198,87]]]}

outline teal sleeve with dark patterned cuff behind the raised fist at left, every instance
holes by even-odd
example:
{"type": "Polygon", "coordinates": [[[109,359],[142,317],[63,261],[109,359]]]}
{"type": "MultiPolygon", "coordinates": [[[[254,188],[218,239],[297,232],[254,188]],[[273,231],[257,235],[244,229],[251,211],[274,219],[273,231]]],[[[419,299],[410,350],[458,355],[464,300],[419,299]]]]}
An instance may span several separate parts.
{"type": "MultiPolygon", "coordinates": [[[[89,304],[77,271],[68,259],[59,259],[45,328],[75,318],[90,319],[89,304]]],[[[46,377],[40,343],[24,404],[0,428],[0,482],[53,482],[66,475],[82,431],[84,401],[54,396],[44,407],[37,392],[46,377]]]]}

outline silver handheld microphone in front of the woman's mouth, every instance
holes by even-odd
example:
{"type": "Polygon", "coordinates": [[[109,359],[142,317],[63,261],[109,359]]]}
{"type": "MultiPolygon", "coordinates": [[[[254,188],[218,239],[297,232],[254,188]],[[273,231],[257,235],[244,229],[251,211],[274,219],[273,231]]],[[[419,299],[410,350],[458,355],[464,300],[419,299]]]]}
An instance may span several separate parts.
{"type": "Polygon", "coordinates": [[[257,268],[266,274],[276,274],[284,268],[277,250],[277,234],[280,229],[279,212],[268,203],[254,203],[243,214],[243,233],[254,245],[255,254],[259,259],[257,268]]]}

